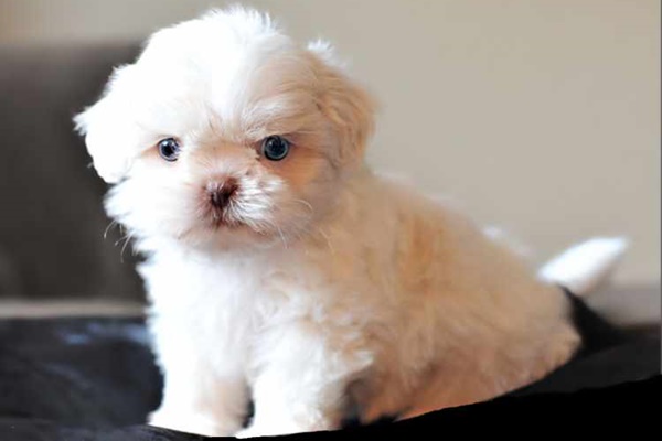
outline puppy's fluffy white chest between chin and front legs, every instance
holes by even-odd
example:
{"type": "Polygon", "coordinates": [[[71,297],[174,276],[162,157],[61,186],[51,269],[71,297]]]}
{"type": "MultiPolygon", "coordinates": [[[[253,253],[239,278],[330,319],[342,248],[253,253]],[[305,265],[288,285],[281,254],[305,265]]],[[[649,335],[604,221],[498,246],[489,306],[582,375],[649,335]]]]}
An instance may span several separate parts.
{"type": "Polygon", "coordinates": [[[225,353],[245,353],[270,329],[334,303],[324,292],[324,275],[291,261],[169,258],[146,265],[141,273],[153,322],[225,353]]]}

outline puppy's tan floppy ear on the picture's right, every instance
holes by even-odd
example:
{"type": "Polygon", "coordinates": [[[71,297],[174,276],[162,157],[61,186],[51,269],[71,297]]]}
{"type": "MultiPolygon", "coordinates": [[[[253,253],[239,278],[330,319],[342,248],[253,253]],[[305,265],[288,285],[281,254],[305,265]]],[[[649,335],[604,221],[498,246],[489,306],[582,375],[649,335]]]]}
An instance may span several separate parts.
{"type": "Polygon", "coordinates": [[[317,41],[308,45],[308,52],[314,58],[320,79],[318,107],[340,138],[339,165],[360,162],[374,131],[375,101],[348,77],[331,45],[317,41]]]}

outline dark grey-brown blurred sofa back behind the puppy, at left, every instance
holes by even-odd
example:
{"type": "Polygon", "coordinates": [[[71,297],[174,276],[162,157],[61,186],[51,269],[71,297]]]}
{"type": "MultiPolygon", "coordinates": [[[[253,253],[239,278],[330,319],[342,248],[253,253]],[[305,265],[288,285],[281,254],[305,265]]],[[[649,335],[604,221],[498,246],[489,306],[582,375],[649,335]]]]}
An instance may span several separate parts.
{"type": "Polygon", "coordinates": [[[135,45],[0,47],[0,299],[141,299],[130,247],[102,201],[105,184],[72,117],[93,103],[135,45]]]}

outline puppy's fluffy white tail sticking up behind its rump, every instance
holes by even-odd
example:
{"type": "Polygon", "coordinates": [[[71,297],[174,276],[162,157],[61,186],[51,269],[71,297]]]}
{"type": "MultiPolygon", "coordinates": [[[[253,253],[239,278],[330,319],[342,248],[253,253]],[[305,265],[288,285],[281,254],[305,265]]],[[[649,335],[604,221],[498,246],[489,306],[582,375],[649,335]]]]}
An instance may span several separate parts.
{"type": "Polygon", "coordinates": [[[538,277],[585,297],[609,279],[627,248],[628,240],[623,237],[589,239],[549,260],[540,269],[538,277]]]}

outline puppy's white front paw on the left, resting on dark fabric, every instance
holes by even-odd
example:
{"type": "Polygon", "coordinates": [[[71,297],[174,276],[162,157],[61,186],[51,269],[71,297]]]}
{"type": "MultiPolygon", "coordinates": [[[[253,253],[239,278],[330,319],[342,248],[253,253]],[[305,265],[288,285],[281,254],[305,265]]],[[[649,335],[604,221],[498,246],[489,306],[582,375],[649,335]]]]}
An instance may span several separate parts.
{"type": "Polygon", "coordinates": [[[232,437],[241,429],[241,424],[235,421],[218,421],[203,415],[162,410],[152,412],[148,421],[150,426],[205,437],[232,437]]]}

